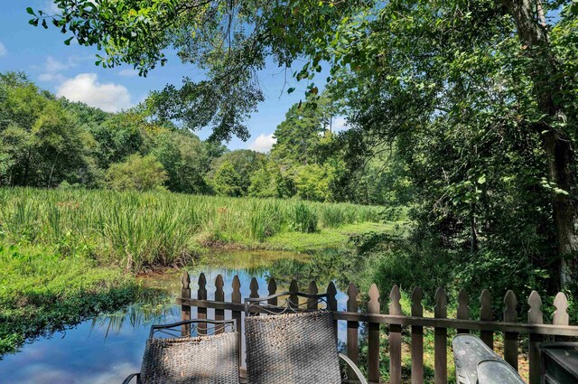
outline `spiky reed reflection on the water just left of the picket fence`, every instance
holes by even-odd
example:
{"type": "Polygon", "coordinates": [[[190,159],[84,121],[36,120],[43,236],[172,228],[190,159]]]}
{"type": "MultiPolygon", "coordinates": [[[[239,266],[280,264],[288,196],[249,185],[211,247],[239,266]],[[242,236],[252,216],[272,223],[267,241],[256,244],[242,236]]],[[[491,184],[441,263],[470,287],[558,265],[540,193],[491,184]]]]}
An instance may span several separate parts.
{"type": "Polygon", "coordinates": [[[112,314],[101,314],[92,320],[91,330],[95,326],[106,328],[105,339],[109,333],[120,332],[124,325],[137,328],[143,324],[163,323],[171,316],[178,317],[180,308],[174,305],[174,295],[161,288],[143,288],[135,300],[126,308],[112,314]]]}

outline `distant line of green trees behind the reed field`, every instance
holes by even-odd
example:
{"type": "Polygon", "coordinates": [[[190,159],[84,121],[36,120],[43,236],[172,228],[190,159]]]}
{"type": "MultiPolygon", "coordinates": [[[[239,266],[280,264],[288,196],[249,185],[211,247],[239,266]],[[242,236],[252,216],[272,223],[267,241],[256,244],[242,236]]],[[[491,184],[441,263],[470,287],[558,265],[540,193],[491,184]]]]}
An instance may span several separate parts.
{"type": "Polygon", "coordinates": [[[324,97],[290,108],[266,155],[202,141],[145,105],[107,113],[56,98],[24,74],[8,72],[0,74],[0,186],[403,201],[383,172],[388,159],[352,167],[345,152],[333,151],[333,104],[324,97]]]}

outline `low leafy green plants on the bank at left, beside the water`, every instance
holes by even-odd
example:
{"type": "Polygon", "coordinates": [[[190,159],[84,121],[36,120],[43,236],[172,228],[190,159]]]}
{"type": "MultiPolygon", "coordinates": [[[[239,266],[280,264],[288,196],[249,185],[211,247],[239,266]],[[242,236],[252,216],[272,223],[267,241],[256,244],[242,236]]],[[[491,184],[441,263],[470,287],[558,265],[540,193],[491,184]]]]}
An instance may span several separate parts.
{"type": "Polygon", "coordinates": [[[130,276],[42,248],[0,247],[0,286],[0,356],[31,338],[117,310],[137,292],[130,276]]]}

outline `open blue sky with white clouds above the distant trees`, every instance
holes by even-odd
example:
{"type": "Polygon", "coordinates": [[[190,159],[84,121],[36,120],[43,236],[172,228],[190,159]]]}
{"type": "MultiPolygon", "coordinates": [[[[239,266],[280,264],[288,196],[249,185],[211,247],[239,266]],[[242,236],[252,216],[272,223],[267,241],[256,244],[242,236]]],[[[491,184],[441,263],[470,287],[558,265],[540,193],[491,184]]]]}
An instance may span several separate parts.
{"type": "MultiPolygon", "coordinates": [[[[23,70],[41,88],[65,96],[75,101],[83,101],[91,106],[108,111],[130,108],[146,98],[149,91],[162,89],[167,83],[181,84],[182,77],[200,80],[203,74],[191,65],[183,65],[173,54],[164,67],[151,71],[141,78],[130,66],[103,69],[95,65],[96,48],[81,47],[72,43],[64,44],[68,35],[56,28],[44,30],[28,23],[30,15],[26,7],[49,10],[50,0],[4,0],[0,14],[0,71],[23,70]]],[[[295,68],[302,63],[296,63],[295,68]]],[[[323,85],[326,75],[321,74],[317,83],[323,85]]],[[[291,95],[284,86],[284,70],[273,62],[259,74],[259,81],[266,101],[259,105],[258,112],[247,122],[251,138],[242,142],[234,138],[228,143],[230,149],[251,148],[266,152],[272,145],[275,127],[284,120],[284,114],[294,103],[303,98],[307,83],[295,84],[288,74],[289,84],[295,87],[291,95]]],[[[313,81],[315,81],[313,80],[313,81]]],[[[339,128],[342,122],[337,122],[339,128]]],[[[204,139],[210,129],[197,132],[204,139]]]]}

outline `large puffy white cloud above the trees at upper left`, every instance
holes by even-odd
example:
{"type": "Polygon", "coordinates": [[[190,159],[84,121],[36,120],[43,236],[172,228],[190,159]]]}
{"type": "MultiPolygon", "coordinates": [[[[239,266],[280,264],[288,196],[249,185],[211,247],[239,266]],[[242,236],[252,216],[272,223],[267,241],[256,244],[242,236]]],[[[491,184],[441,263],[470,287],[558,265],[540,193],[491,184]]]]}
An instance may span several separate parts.
{"type": "Polygon", "coordinates": [[[132,107],[126,87],[115,83],[100,83],[96,73],[80,73],[74,79],[64,81],[56,94],[107,112],[118,112],[132,107]]]}

